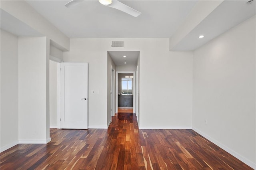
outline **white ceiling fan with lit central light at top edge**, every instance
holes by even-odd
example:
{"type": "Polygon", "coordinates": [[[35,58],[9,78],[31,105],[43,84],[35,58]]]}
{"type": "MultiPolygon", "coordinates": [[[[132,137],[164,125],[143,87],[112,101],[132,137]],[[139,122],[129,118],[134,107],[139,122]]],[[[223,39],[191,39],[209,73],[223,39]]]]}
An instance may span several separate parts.
{"type": "MultiPolygon", "coordinates": [[[[70,2],[66,3],[65,6],[69,8],[71,6],[75,6],[76,4],[79,4],[82,1],[84,0],[71,0],[70,2]]],[[[134,17],[137,17],[141,14],[141,12],[134,10],[133,8],[119,2],[118,0],[99,0],[99,2],[105,6],[115,8],[117,10],[130,14],[131,16],[134,16],[134,17]]]]}

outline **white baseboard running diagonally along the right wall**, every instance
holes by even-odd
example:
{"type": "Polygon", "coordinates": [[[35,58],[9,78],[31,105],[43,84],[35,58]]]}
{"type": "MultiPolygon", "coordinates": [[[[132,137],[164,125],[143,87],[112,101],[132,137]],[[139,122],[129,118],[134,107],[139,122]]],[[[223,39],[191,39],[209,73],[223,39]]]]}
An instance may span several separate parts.
{"type": "Polygon", "coordinates": [[[223,150],[225,150],[226,152],[232,154],[234,157],[238,158],[239,160],[241,160],[242,162],[244,162],[245,164],[247,164],[248,166],[250,166],[251,168],[256,169],[256,163],[248,160],[247,158],[244,158],[244,156],[238,154],[237,152],[235,152],[234,150],[228,148],[227,146],[225,146],[224,144],[218,142],[217,140],[213,139],[212,137],[208,136],[207,134],[205,134],[204,132],[201,132],[200,130],[198,130],[197,128],[192,128],[194,131],[196,131],[197,133],[199,133],[200,135],[204,136],[204,138],[210,140],[212,143],[216,144],[217,146],[219,146],[220,148],[222,148],[223,150]]]}

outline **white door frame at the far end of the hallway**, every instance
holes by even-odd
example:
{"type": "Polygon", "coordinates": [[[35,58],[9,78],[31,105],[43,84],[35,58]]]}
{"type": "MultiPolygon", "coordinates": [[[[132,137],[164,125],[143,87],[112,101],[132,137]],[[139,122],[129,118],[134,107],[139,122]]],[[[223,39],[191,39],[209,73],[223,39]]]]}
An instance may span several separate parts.
{"type": "Polygon", "coordinates": [[[136,74],[135,71],[116,71],[116,111],[118,111],[118,73],[132,73],[133,74],[133,83],[132,83],[132,87],[133,87],[133,113],[135,113],[135,115],[137,115],[136,113],[136,86],[135,86],[135,80],[136,80],[136,74]]]}

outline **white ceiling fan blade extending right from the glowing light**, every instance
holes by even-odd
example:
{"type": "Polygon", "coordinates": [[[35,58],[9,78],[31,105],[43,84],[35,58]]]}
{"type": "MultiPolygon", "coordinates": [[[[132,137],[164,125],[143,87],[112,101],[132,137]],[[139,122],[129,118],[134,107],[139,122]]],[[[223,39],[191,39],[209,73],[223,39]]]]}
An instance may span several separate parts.
{"type": "Polygon", "coordinates": [[[134,10],[133,8],[123,4],[122,2],[119,2],[117,0],[113,0],[111,4],[106,5],[111,8],[115,8],[117,10],[120,10],[122,12],[125,12],[127,14],[130,14],[131,16],[137,17],[141,14],[141,12],[138,12],[137,10],[134,10]]]}

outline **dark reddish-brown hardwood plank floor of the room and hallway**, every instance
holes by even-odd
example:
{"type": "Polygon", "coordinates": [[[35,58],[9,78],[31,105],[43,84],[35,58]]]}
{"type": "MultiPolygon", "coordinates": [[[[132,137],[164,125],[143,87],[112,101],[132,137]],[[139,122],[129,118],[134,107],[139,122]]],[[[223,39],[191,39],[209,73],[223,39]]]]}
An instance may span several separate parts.
{"type": "Polygon", "coordinates": [[[193,130],[139,130],[132,113],[108,129],[50,130],[48,144],[18,144],[0,156],[0,169],[251,170],[193,130]]]}

